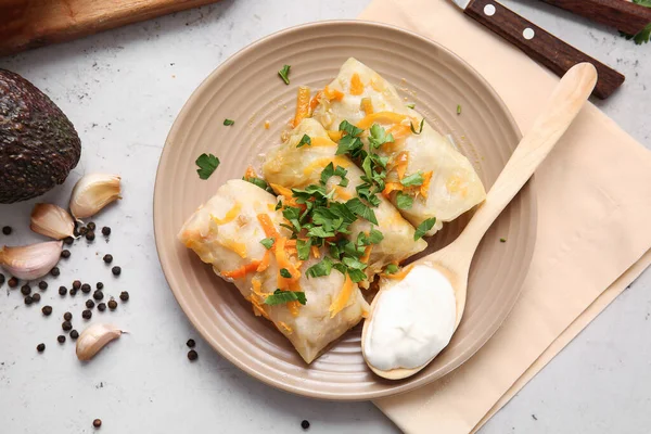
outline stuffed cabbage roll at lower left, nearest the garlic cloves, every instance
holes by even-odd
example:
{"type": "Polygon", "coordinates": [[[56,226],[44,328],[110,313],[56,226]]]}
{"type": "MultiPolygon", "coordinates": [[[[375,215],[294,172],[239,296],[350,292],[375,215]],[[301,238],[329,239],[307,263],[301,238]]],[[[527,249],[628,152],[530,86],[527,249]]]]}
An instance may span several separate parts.
{"type": "Polygon", "coordinates": [[[339,271],[305,275],[318,259],[297,259],[296,240],[280,226],[283,216],[276,205],[265,190],[230,180],[186,221],[178,238],[232,282],[254,314],[273,322],[309,363],[369,306],[357,284],[339,271]]]}

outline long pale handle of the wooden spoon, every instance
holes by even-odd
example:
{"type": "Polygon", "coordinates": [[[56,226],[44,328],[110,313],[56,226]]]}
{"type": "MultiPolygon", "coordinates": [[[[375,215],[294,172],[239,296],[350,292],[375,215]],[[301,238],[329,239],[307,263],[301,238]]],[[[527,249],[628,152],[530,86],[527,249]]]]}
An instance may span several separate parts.
{"type": "Polygon", "coordinates": [[[590,97],[597,71],[590,63],[572,67],[554,89],[533,127],[520,141],[503,170],[486,195],[486,201],[459,237],[467,248],[478,245],[493,221],[532,177],[536,168],[563,136],[590,97]]]}

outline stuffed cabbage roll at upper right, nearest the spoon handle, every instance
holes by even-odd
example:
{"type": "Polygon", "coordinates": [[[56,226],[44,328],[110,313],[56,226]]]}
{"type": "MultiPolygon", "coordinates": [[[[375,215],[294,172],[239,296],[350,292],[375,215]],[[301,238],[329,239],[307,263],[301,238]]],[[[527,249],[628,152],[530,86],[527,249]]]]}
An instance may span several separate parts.
{"type": "Polygon", "coordinates": [[[468,158],[361,62],[348,59],[316,98],[314,118],[331,133],[345,120],[361,130],[358,136],[367,150],[388,158],[383,194],[426,234],[486,197],[468,158]]]}

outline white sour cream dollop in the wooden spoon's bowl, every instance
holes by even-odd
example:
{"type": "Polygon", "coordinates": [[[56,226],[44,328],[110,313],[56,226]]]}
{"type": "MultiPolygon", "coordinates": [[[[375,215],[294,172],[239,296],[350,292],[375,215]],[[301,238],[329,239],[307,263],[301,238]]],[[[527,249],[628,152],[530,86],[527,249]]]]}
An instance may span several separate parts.
{"type": "Polygon", "coordinates": [[[457,319],[455,290],[441,271],[416,266],[378,296],[365,341],[365,356],[373,368],[419,368],[450,342],[457,319]]]}

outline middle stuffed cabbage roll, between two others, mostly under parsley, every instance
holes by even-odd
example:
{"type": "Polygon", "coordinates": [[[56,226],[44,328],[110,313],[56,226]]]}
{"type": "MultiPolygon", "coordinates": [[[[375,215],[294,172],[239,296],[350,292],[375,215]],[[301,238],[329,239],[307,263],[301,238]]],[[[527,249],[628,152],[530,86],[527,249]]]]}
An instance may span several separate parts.
{"type": "MultiPolygon", "coordinates": [[[[319,184],[321,174],[332,164],[333,169],[342,167],[346,170],[345,186],[342,178],[332,176],[326,182],[326,189],[333,191],[333,200],[346,202],[357,196],[356,188],[363,183],[363,171],[343,155],[336,155],[337,145],[328,131],[315,119],[306,118],[291,132],[289,139],[277,148],[271,149],[265,157],[263,175],[265,179],[282,193],[284,189],[304,189],[310,184],[319,184]],[[305,137],[309,144],[301,144],[305,137]]],[[[285,192],[286,195],[291,193],[285,192]]],[[[419,239],[414,241],[413,227],[400,216],[400,213],[382,195],[379,205],[373,207],[378,225],[366,219],[357,219],[349,227],[348,239],[356,240],[360,232],[370,233],[374,228],[383,239],[369,248],[369,257],[365,272],[369,280],[391,263],[400,263],[409,256],[422,252],[427,243],[419,239]]],[[[362,283],[366,288],[368,282],[362,283]]]]}

